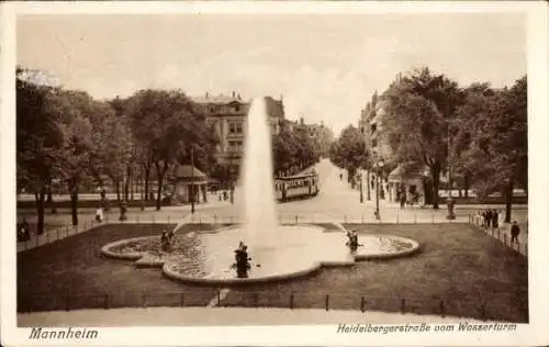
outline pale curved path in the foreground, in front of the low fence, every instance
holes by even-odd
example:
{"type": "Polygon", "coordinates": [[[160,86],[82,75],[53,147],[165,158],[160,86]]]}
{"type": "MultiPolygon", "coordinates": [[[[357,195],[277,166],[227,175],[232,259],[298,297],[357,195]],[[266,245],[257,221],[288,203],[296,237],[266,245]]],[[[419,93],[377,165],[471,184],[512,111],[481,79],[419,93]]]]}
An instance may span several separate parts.
{"type": "Polygon", "coordinates": [[[397,324],[478,322],[472,318],[441,317],[318,309],[240,307],[148,307],[53,311],[18,314],[18,326],[243,326],[305,324],[397,324]]]}

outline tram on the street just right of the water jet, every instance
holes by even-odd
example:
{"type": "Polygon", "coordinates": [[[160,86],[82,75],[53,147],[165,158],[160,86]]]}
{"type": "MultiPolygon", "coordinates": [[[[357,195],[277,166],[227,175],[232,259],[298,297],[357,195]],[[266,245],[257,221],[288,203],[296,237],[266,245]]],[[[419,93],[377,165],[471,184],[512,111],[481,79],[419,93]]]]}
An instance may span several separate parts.
{"type": "Polygon", "coordinates": [[[280,202],[310,199],[318,191],[318,175],[314,171],[274,179],[274,194],[280,202]]]}

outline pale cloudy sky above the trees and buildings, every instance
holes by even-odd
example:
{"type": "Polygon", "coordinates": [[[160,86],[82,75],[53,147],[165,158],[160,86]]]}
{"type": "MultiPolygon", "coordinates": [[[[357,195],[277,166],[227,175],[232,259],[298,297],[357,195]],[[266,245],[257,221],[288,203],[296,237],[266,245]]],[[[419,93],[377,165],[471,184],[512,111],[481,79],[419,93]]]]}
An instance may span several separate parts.
{"type": "Polygon", "coordinates": [[[98,99],[282,96],[288,119],[336,135],[399,72],[493,87],[526,74],[525,18],[513,13],[25,15],[16,30],[18,64],[98,99]]]}

